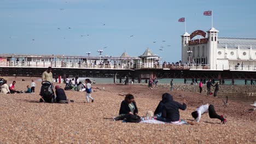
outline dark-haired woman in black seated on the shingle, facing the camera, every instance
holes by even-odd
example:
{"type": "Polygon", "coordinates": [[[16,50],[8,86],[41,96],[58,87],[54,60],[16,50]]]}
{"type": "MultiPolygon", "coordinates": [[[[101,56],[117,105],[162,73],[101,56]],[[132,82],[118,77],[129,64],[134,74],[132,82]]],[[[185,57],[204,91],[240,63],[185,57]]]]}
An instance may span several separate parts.
{"type": "Polygon", "coordinates": [[[132,94],[126,94],[125,100],[122,101],[119,116],[115,117],[114,121],[123,120],[125,115],[137,115],[138,109],[132,94]]]}

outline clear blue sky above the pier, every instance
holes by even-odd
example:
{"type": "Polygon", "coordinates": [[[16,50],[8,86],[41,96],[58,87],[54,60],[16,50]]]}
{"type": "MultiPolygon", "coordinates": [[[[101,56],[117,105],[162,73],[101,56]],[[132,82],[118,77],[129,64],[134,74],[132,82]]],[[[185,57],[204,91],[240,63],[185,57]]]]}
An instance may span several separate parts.
{"type": "Polygon", "coordinates": [[[0,0],[0,53],[140,56],[148,47],[177,62],[185,32],[179,18],[189,34],[208,31],[203,11],[212,10],[219,37],[256,38],[255,7],[254,0],[0,0]]]}

